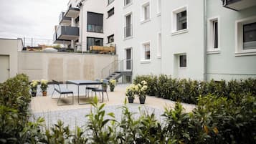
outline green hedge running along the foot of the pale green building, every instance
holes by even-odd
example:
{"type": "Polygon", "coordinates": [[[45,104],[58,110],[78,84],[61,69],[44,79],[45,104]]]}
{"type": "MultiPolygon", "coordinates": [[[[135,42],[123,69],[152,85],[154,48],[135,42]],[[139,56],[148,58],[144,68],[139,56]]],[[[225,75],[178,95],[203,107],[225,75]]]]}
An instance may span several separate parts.
{"type": "Polygon", "coordinates": [[[133,82],[137,84],[142,80],[148,82],[147,95],[163,97],[168,100],[196,104],[198,97],[206,95],[217,95],[218,97],[231,97],[250,93],[256,95],[256,80],[224,80],[210,82],[176,79],[167,75],[143,75],[137,76],[133,82]]]}

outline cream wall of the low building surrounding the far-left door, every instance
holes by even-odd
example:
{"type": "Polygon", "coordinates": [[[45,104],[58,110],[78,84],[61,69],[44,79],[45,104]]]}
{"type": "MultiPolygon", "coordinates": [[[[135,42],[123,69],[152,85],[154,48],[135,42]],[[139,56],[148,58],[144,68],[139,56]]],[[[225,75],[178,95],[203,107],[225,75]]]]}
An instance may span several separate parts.
{"type": "Polygon", "coordinates": [[[22,39],[0,39],[0,55],[9,56],[9,77],[18,73],[18,51],[21,50],[22,39]]]}

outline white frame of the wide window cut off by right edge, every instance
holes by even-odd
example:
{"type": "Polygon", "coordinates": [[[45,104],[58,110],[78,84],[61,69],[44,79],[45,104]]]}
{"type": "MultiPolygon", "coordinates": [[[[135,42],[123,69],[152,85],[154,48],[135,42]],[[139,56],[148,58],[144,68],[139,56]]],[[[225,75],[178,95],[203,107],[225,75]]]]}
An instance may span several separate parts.
{"type": "Polygon", "coordinates": [[[235,56],[255,55],[256,49],[243,49],[243,26],[256,22],[256,16],[235,21],[235,56]]]}

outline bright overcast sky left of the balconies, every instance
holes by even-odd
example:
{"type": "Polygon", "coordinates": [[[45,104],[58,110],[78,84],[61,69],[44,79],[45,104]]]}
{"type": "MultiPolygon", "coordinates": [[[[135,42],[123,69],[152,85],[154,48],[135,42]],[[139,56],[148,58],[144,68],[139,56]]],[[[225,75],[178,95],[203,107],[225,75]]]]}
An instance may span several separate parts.
{"type": "Polygon", "coordinates": [[[0,0],[0,38],[52,39],[69,0],[0,0]]]}

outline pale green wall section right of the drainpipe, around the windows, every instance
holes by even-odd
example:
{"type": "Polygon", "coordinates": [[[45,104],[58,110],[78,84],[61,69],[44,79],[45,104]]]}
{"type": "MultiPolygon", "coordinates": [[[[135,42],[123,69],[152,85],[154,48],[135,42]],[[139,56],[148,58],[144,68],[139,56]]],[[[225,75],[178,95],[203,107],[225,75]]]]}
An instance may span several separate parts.
{"type": "Polygon", "coordinates": [[[224,8],[222,1],[207,0],[207,17],[219,16],[220,53],[207,54],[207,80],[256,77],[256,55],[236,57],[235,21],[256,16],[256,6],[242,11],[224,8]]]}

